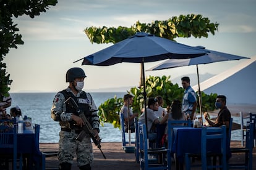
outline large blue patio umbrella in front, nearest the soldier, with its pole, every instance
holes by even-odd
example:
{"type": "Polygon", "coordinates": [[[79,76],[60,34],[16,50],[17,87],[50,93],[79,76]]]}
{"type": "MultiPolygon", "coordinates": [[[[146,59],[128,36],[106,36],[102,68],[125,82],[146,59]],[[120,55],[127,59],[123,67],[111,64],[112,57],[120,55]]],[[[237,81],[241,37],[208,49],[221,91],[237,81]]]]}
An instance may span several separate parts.
{"type": "MultiPolygon", "coordinates": [[[[80,60],[83,60],[82,65],[98,66],[108,66],[122,62],[142,63],[143,99],[146,108],[145,62],[156,62],[164,59],[189,59],[204,55],[207,52],[205,49],[187,46],[153,34],[139,32],[80,60]]],[[[145,120],[147,124],[147,109],[145,109],[145,120]]]]}

